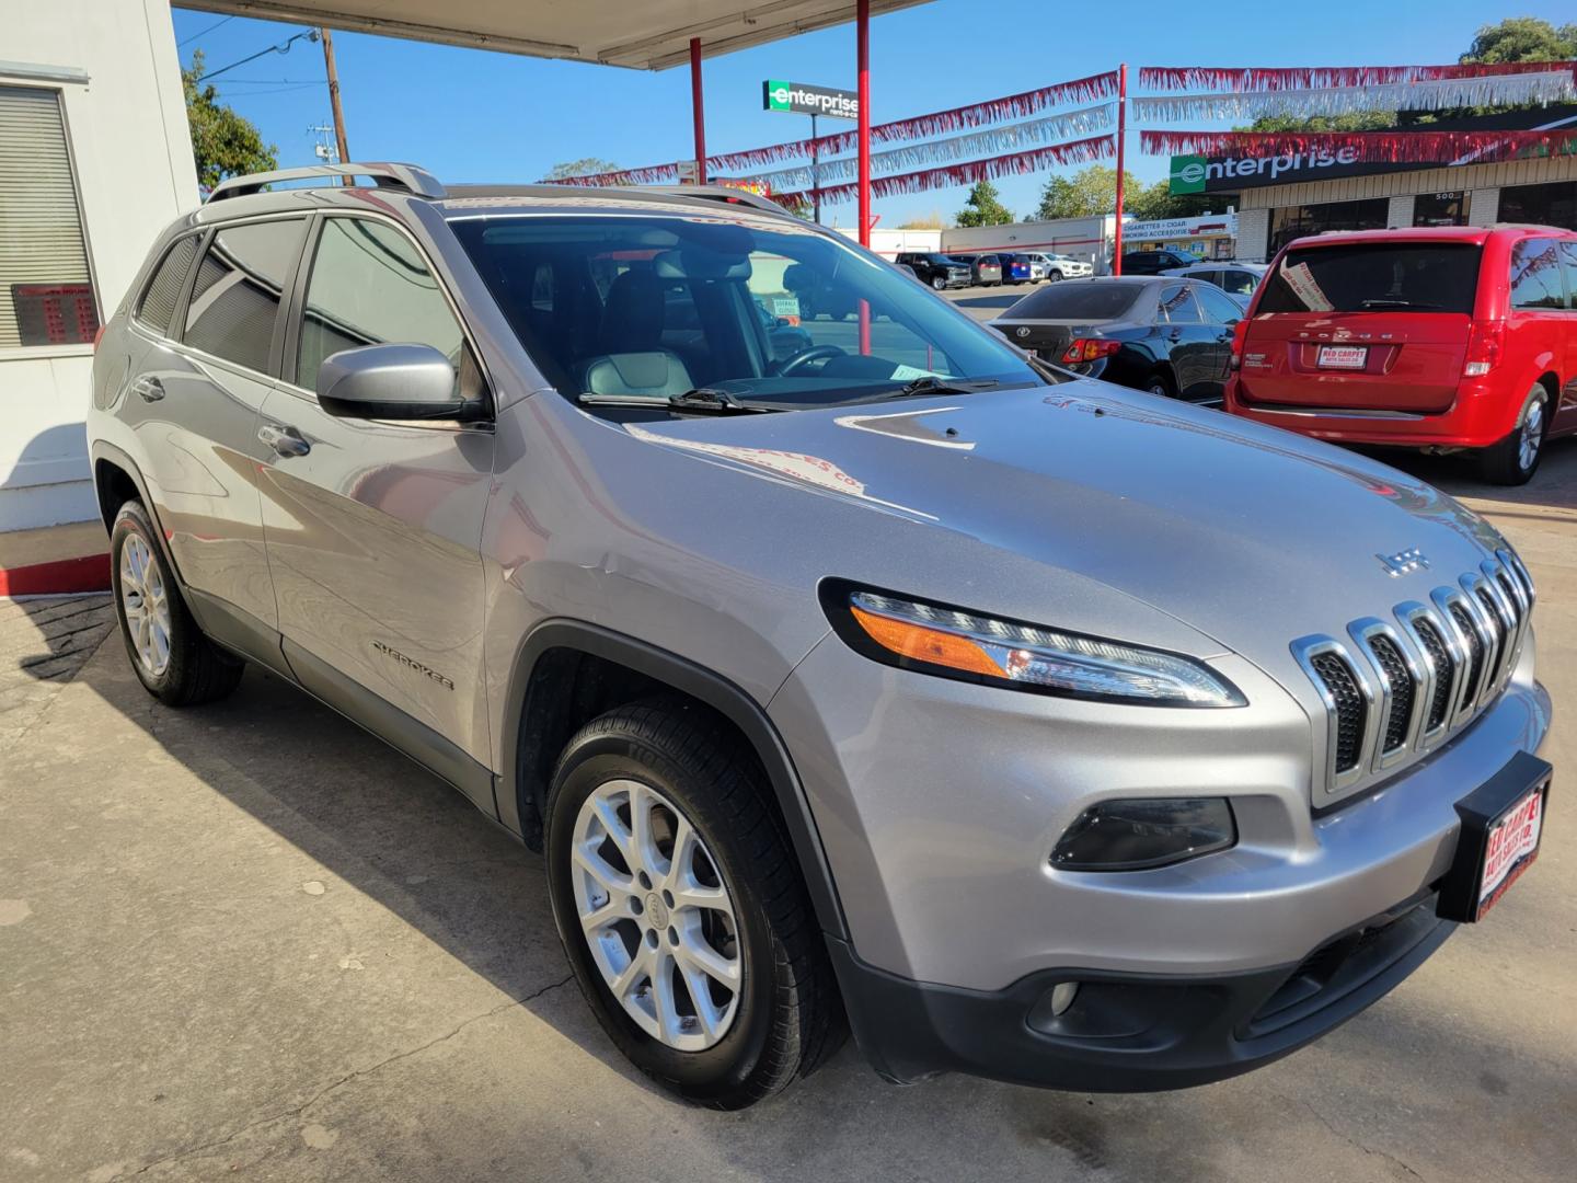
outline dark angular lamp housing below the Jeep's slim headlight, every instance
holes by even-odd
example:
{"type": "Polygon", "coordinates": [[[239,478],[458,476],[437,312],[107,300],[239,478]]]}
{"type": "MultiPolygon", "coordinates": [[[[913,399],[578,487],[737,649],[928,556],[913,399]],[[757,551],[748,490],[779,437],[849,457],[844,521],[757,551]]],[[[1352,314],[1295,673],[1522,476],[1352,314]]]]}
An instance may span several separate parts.
{"type": "Polygon", "coordinates": [[[1238,841],[1224,797],[1101,801],[1052,850],[1057,871],[1150,871],[1225,850],[1238,841]]]}

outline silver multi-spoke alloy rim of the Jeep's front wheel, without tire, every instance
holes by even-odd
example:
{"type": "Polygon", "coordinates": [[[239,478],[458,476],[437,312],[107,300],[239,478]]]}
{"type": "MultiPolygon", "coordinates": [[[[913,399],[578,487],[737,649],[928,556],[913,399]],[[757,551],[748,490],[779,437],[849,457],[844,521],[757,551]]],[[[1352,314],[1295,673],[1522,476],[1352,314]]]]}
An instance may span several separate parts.
{"type": "Polygon", "coordinates": [[[722,1039],[743,989],[740,931],[689,819],[647,784],[606,781],[580,804],[569,861],[591,959],[623,1011],[681,1052],[722,1039]]]}

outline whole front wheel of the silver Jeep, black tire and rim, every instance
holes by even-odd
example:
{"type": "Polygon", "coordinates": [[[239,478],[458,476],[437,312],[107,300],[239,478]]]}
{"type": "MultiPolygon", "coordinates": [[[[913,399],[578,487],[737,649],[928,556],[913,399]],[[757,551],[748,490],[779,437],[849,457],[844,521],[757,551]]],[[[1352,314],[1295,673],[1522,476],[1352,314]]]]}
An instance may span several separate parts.
{"type": "Polygon", "coordinates": [[[754,754],[681,700],[620,707],[565,748],[547,886],[598,1022],[647,1076],[743,1109],[837,1044],[826,950],[754,754]]]}

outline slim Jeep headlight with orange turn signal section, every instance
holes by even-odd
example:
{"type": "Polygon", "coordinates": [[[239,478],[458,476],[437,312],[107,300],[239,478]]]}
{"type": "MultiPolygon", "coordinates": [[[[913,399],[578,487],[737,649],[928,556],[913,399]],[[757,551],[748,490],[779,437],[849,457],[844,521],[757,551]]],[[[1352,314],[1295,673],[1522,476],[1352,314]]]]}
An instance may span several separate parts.
{"type": "Polygon", "coordinates": [[[875,661],[962,681],[1150,707],[1243,707],[1202,661],[1164,650],[995,620],[826,580],[837,634],[875,661]]]}

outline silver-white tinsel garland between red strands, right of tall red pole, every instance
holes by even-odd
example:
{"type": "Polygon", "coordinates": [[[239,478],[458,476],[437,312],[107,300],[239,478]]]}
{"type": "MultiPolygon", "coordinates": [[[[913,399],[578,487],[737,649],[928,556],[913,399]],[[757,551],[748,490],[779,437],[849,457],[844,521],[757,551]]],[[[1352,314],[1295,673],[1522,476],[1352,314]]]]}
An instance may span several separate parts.
{"type": "Polygon", "coordinates": [[[1451,110],[1454,107],[1514,107],[1577,98],[1569,69],[1493,77],[1435,79],[1374,87],[1326,90],[1262,90],[1219,95],[1165,95],[1134,98],[1132,115],[1140,123],[1189,118],[1260,118],[1265,115],[1347,115],[1358,110],[1451,110]]]}

